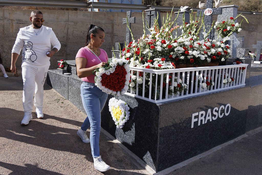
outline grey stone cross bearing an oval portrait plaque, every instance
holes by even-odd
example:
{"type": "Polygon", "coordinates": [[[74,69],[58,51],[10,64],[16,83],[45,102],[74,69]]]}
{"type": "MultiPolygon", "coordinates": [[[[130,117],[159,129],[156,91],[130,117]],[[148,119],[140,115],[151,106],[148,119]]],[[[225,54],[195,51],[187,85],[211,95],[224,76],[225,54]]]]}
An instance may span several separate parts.
{"type": "MultiPolygon", "coordinates": [[[[205,31],[206,33],[210,30],[211,28],[211,25],[212,25],[212,22],[213,22],[213,19],[212,19],[212,16],[213,15],[219,15],[219,14],[222,14],[222,8],[219,7],[219,8],[213,8],[213,3],[214,3],[214,0],[207,0],[206,1],[206,8],[210,8],[212,9],[213,13],[210,14],[210,15],[205,15],[204,12],[205,12],[205,9],[203,10],[197,10],[197,13],[196,15],[199,17],[200,15],[201,16],[204,16],[204,25],[205,25],[205,31]],[[201,13],[201,14],[200,14],[201,13]]],[[[201,34],[200,34],[200,40],[204,39],[204,35],[203,35],[203,31],[204,29],[202,28],[201,30],[201,34]]],[[[214,29],[211,30],[209,36],[208,36],[209,39],[214,39],[214,29]]]]}

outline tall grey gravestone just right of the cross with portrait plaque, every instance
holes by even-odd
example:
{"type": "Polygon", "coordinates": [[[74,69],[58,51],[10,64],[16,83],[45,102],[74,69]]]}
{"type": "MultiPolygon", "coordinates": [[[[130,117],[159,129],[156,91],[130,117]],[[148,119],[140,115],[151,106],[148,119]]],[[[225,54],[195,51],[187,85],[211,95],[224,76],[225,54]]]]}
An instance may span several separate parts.
{"type": "MultiPolygon", "coordinates": [[[[217,21],[221,22],[221,21],[226,21],[227,19],[230,20],[230,17],[236,18],[237,16],[237,8],[238,6],[236,5],[229,5],[229,6],[220,6],[223,11],[222,14],[217,16],[217,21]]],[[[237,22],[237,20],[235,20],[235,22],[237,22]]],[[[230,50],[231,50],[231,54],[232,57],[237,57],[237,45],[236,45],[236,33],[233,33],[230,36],[230,40],[228,40],[228,45],[230,45],[230,50]]],[[[215,38],[217,38],[217,36],[215,36],[215,38]]]]}

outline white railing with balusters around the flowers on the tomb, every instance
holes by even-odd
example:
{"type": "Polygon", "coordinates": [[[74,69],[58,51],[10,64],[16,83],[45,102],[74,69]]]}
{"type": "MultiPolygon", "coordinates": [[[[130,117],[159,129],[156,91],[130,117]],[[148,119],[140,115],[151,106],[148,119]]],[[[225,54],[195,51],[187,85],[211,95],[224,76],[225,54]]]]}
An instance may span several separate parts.
{"type": "Polygon", "coordinates": [[[243,87],[247,66],[238,64],[165,70],[130,67],[134,87],[130,87],[125,94],[160,103],[243,87]]]}

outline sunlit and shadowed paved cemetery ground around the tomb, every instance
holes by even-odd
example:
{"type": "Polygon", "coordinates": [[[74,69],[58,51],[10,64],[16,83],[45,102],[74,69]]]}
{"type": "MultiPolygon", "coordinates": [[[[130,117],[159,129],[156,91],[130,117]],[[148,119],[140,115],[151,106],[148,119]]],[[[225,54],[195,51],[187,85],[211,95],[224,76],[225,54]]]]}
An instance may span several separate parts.
{"type": "MultiPolygon", "coordinates": [[[[261,70],[254,76],[261,78],[261,70]]],[[[34,110],[33,120],[22,126],[22,78],[0,77],[0,174],[149,174],[103,132],[100,153],[111,169],[95,170],[90,144],[76,134],[84,112],[47,84],[44,89],[44,118],[37,119],[34,110]]],[[[262,174],[261,145],[260,127],[170,174],[262,174]]]]}

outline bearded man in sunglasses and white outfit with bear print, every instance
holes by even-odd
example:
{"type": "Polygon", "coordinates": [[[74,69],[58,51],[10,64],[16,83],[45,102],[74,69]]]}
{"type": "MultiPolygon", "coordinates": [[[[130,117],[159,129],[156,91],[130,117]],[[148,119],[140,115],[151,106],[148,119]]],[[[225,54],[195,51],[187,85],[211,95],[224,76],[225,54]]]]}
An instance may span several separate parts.
{"type": "Polygon", "coordinates": [[[33,10],[29,18],[31,25],[21,28],[12,49],[11,71],[16,72],[15,62],[22,50],[22,77],[24,82],[23,107],[24,118],[21,125],[32,120],[33,95],[37,118],[43,118],[43,85],[52,57],[61,45],[52,28],[43,26],[43,14],[33,10]],[[53,49],[51,50],[51,45],[53,49]]]}

